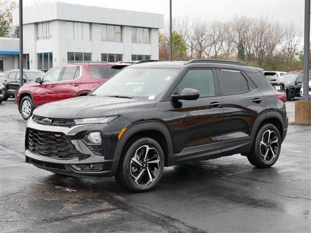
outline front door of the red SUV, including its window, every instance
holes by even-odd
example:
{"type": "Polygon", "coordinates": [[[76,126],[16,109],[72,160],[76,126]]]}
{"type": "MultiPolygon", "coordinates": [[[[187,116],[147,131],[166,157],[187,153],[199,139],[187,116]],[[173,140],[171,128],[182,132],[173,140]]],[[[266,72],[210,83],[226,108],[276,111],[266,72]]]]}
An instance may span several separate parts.
{"type": "Polygon", "coordinates": [[[42,84],[37,85],[33,93],[37,105],[55,101],[55,89],[63,67],[56,67],[48,71],[42,78],[42,84]]]}

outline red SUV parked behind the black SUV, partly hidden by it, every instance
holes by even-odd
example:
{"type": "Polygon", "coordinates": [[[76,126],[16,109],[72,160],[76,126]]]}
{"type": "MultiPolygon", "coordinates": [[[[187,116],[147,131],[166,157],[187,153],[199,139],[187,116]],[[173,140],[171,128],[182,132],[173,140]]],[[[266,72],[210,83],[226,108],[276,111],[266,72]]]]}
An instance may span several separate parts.
{"type": "Polygon", "coordinates": [[[86,96],[125,66],[128,64],[86,62],[53,67],[42,78],[19,89],[18,111],[24,119],[28,119],[35,107],[44,103],[86,96]]]}

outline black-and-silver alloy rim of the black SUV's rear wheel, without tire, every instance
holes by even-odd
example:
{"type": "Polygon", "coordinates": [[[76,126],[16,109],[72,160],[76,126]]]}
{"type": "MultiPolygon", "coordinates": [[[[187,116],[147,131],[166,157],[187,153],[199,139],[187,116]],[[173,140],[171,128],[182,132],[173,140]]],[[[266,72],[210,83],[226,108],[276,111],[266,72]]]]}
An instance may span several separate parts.
{"type": "Polygon", "coordinates": [[[267,130],[262,134],[260,141],[260,155],[265,162],[270,163],[278,153],[278,138],[273,130],[267,130]]]}

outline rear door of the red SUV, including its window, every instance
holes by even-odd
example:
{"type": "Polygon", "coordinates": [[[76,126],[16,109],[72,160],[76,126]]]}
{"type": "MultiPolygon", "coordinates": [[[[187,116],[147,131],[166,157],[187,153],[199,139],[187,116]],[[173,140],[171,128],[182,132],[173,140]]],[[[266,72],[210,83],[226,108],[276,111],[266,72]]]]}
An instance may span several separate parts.
{"type": "Polygon", "coordinates": [[[77,97],[80,89],[80,77],[80,66],[64,67],[59,82],[56,83],[55,100],[77,97]]]}

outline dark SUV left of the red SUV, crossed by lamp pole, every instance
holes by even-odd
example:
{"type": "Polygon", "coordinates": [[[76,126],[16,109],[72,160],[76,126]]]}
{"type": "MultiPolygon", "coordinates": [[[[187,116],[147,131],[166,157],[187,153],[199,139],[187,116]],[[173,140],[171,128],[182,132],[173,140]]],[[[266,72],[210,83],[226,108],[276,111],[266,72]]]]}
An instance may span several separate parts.
{"type": "MultiPolygon", "coordinates": [[[[37,69],[25,69],[24,70],[24,83],[35,82],[35,79],[42,77],[44,72],[37,69]]],[[[4,75],[0,77],[0,83],[3,83],[7,89],[7,96],[4,100],[9,97],[15,96],[15,90],[19,89],[19,69],[11,69],[5,71],[4,75]]]]}

